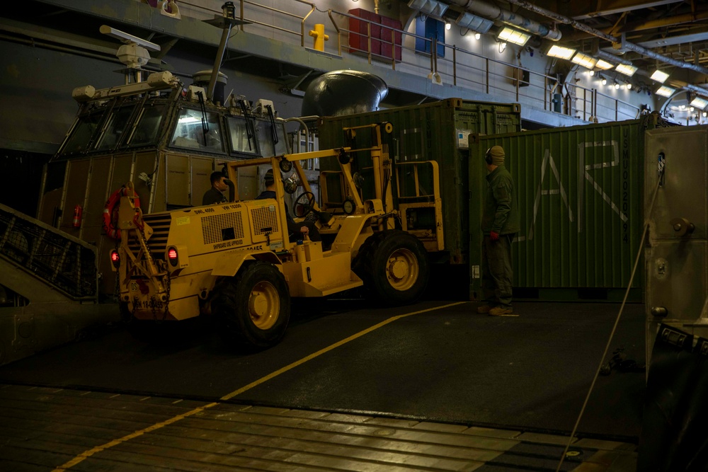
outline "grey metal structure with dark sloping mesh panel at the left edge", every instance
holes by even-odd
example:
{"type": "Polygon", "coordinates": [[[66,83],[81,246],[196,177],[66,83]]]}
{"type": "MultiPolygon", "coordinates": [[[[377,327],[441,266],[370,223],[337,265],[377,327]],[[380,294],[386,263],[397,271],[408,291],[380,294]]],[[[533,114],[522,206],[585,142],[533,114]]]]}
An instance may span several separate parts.
{"type": "Polygon", "coordinates": [[[0,364],[118,321],[98,304],[96,247],[0,204],[0,364]]]}

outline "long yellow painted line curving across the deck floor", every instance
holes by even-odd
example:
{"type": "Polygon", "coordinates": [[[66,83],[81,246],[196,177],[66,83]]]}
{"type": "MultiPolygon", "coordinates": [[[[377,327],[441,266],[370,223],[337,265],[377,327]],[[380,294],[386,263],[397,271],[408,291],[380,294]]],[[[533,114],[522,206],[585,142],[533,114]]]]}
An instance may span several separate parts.
{"type": "MultiPolygon", "coordinates": [[[[381,328],[382,326],[386,326],[389,323],[393,323],[396,320],[399,320],[401,318],[406,318],[406,316],[417,315],[419,313],[426,313],[427,311],[439,310],[439,309],[447,308],[449,306],[461,305],[463,303],[467,303],[467,301],[457,301],[455,303],[450,303],[447,305],[433,306],[433,308],[428,308],[425,310],[418,310],[418,311],[413,311],[411,313],[405,313],[403,315],[392,316],[391,318],[388,318],[387,320],[384,320],[381,323],[371,326],[370,328],[366,328],[365,330],[360,331],[359,333],[356,333],[355,335],[351,335],[346,339],[343,339],[341,341],[338,341],[337,343],[334,343],[333,345],[329,345],[328,347],[325,347],[324,349],[314,352],[313,354],[311,354],[307,357],[303,357],[302,359],[299,359],[298,361],[293,362],[292,364],[289,364],[289,365],[283,367],[282,369],[278,369],[275,372],[272,372],[272,373],[266,375],[265,377],[261,377],[261,379],[251,382],[251,384],[241,387],[238,390],[234,390],[234,391],[232,391],[232,393],[222,396],[222,398],[219,398],[219,400],[228,400],[229,398],[234,398],[234,396],[239,395],[240,393],[244,393],[245,391],[251,390],[251,388],[261,385],[261,384],[263,384],[263,382],[273,379],[273,377],[279,376],[280,374],[283,374],[284,372],[287,372],[290,369],[294,369],[295,367],[302,365],[305,362],[314,359],[315,357],[323,355],[325,352],[329,352],[336,347],[339,347],[343,344],[349,343],[350,341],[360,338],[367,333],[371,333],[373,330],[377,330],[377,329],[381,328]]],[[[90,393],[90,392],[86,392],[86,393],[90,393]]],[[[146,398],[150,398],[150,397],[146,397],[146,398]]],[[[146,398],[143,398],[142,400],[144,400],[146,398]]],[[[82,452],[78,456],[74,457],[74,459],[72,459],[71,461],[68,461],[67,463],[62,464],[61,466],[55,468],[52,472],[64,472],[67,470],[67,468],[72,468],[76,464],[79,464],[80,462],[82,462],[86,459],[89,459],[89,457],[93,456],[93,454],[96,454],[97,452],[101,452],[101,451],[103,451],[105,449],[109,449],[113,446],[118,446],[118,444],[121,444],[122,442],[130,441],[130,439],[141,436],[142,434],[145,434],[147,432],[159,430],[161,427],[171,425],[173,422],[183,420],[184,418],[188,418],[189,416],[195,415],[196,413],[200,413],[200,412],[206,410],[207,408],[212,408],[216,405],[219,405],[219,403],[218,402],[209,403],[208,405],[200,406],[199,408],[195,408],[194,410],[190,410],[187,413],[177,415],[173,418],[170,418],[169,420],[155,423],[154,425],[148,426],[148,427],[144,428],[143,430],[132,432],[132,433],[127,434],[126,436],[123,436],[119,439],[113,439],[113,441],[111,441],[111,442],[107,442],[101,446],[97,446],[97,447],[94,447],[93,449],[89,449],[88,451],[82,452]]]]}

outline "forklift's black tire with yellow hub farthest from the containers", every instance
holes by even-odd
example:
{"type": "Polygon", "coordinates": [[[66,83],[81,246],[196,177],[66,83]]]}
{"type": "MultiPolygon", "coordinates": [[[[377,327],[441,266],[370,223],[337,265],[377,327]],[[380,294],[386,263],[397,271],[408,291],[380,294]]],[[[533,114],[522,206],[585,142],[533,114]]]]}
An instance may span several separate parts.
{"type": "Polygon", "coordinates": [[[258,260],[224,280],[212,313],[227,343],[253,352],[278,344],[290,321],[290,292],[275,265],[258,260]]]}

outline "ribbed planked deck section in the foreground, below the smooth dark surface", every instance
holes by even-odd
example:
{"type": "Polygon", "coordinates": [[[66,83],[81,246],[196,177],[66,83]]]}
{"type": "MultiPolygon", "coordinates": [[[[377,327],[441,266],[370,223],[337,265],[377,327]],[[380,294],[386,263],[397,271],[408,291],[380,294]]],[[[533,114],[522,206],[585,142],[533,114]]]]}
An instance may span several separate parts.
{"type": "MultiPolygon", "coordinates": [[[[566,437],[372,415],[0,386],[6,471],[554,470],[566,437]]],[[[563,471],[628,471],[634,444],[579,439],[563,471]]]]}

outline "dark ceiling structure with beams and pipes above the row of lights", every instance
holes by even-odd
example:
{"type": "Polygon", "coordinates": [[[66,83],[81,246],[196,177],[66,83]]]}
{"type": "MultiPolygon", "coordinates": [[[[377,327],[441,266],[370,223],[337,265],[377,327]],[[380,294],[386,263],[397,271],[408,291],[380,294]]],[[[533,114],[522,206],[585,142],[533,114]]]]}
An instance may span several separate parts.
{"type": "Polygon", "coordinates": [[[443,0],[442,3],[450,7],[448,17],[467,11],[497,24],[530,31],[542,51],[556,44],[613,62],[631,63],[647,81],[658,69],[669,75],[667,85],[708,96],[706,0],[508,0],[489,4],[443,0]],[[490,5],[497,9],[489,8],[490,5]]]}

